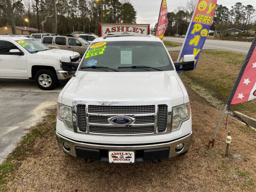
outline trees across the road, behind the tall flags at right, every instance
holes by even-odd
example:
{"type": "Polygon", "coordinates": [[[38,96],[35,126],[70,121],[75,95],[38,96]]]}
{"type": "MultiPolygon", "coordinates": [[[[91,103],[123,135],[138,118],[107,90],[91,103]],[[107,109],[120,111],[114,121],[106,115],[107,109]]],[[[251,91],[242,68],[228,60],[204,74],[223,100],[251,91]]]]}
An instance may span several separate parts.
{"type": "MultiPolygon", "coordinates": [[[[189,0],[185,7],[178,7],[174,12],[168,13],[169,23],[165,35],[184,35],[187,33],[197,2],[197,0],[189,0]]],[[[236,28],[242,31],[249,29],[256,30],[255,13],[255,7],[250,4],[243,5],[242,3],[236,3],[230,9],[217,4],[211,30],[216,31],[216,33],[229,28],[236,28]]],[[[154,31],[156,31],[156,27],[157,23],[154,31]]]]}

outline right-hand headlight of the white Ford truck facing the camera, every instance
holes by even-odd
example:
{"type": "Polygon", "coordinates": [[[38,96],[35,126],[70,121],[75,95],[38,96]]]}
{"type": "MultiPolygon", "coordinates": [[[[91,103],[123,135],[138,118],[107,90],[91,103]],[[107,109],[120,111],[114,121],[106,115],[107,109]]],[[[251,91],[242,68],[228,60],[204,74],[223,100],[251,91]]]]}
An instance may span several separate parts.
{"type": "Polygon", "coordinates": [[[190,103],[173,107],[172,109],[172,131],[177,131],[183,122],[190,118],[190,103]]]}

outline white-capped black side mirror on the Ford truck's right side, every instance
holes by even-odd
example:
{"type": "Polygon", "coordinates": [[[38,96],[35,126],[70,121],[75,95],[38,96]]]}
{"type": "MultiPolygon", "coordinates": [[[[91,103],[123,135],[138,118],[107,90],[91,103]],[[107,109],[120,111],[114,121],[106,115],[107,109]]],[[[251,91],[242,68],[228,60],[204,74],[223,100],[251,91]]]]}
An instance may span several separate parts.
{"type": "Polygon", "coordinates": [[[195,65],[195,56],[193,54],[191,55],[184,55],[183,56],[183,61],[182,62],[173,62],[175,69],[177,71],[190,71],[194,70],[194,65],[195,65]]]}

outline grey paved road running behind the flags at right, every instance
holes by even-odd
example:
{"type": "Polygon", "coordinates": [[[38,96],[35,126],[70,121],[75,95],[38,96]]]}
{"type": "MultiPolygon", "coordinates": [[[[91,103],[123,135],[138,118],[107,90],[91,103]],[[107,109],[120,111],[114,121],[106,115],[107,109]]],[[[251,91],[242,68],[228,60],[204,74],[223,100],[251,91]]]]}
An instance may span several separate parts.
{"type": "MultiPolygon", "coordinates": [[[[183,43],[185,38],[164,37],[164,40],[183,43]]],[[[221,41],[221,40],[206,39],[203,49],[227,50],[227,51],[235,51],[240,53],[247,53],[250,49],[251,44],[252,43],[250,42],[235,42],[235,41],[221,41]]],[[[180,49],[181,47],[173,47],[168,50],[179,51],[180,49]]]]}

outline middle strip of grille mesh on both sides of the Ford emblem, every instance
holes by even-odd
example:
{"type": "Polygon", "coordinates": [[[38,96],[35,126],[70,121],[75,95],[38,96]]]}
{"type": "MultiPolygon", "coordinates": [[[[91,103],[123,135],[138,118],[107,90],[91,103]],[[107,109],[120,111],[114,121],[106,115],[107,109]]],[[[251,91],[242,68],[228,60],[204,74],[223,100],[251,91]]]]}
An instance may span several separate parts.
{"type": "MultiPolygon", "coordinates": [[[[108,118],[113,116],[89,115],[89,123],[109,124],[108,118]]],[[[134,124],[155,123],[155,116],[135,117],[134,124]]]]}

